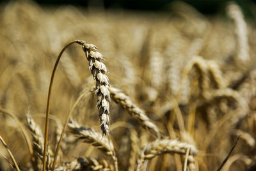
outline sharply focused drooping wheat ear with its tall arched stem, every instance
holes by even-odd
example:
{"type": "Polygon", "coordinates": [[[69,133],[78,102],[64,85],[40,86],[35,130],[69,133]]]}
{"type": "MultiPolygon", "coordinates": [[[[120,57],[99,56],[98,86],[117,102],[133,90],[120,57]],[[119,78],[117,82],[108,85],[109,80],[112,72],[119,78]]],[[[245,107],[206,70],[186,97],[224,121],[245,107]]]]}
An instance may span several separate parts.
{"type": "MultiPolygon", "coordinates": [[[[57,66],[60,62],[61,56],[63,52],[72,44],[77,43],[79,45],[83,46],[83,50],[86,54],[86,59],[89,61],[89,69],[92,71],[93,79],[96,79],[96,93],[98,96],[98,103],[97,106],[99,108],[99,115],[100,115],[100,126],[102,130],[102,134],[106,135],[109,132],[109,91],[108,87],[109,85],[109,80],[108,77],[106,76],[105,73],[108,73],[108,69],[106,66],[100,62],[100,59],[104,59],[102,54],[97,52],[97,47],[92,44],[88,44],[83,40],[75,40],[71,41],[65,47],[62,48],[60,54],[58,55],[56,62],[54,64],[54,68],[52,70],[51,74],[51,80],[50,80],[50,85],[49,85],[49,90],[48,90],[48,96],[47,96],[47,106],[46,106],[46,117],[45,117],[45,136],[44,136],[44,158],[43,158],[43,171],[45,170],[46,167],[46,153],[47,153],[47,142],[48,142],[48,132],[49,132],[49,112],[50,112],[50,101],[51,101],[51,91],[52,91],[52,83],[54,80],[54,75],[57,70],[57,66]]],[[[64,125],[64,128],[66,127],[67,124],[64,125]]],[[[63,129],[65,130],[65,129],[63,129]]],[[[63,133],[61,133],[63,136],[63,133]]],[[[62,138],[61,136],[61,138],[62,138]]],[[[61,142],[60,138],[60,142],[61,142]]],[[[57,146],[57,154],[58,154],[58,147],[60,147],[60,143],[57,146]]],[[[54,166],[56,163],[56,157],[54,158],[53,161],[53,170],[54,166]]]]}

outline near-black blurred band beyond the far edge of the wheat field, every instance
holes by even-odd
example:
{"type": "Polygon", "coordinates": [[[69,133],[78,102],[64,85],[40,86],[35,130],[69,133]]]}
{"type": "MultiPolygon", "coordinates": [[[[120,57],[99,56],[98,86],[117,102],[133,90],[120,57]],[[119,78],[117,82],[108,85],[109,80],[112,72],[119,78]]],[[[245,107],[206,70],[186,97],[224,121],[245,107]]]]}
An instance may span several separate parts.
{"type": "MultiPolygon", "coordinates": [[[[2,0],[8,2],[7,0],[2,0]]],[[[76,0],[76,1],[58,1],[58,0],[36,0],[35,2],[42,5],[64,5],[70,4],[74,6],[81,6],[83,8],[95,7],[104,8],[105,10],[122,9],[122,10],[140,10],[140,11],[170,11],[170,4],[174,0],[76,0]]],[[[184,0],[200,13],[205,15],[211,15],[225,8],[225,4],[228,0],[184,0]]],[[[234,0],[244,11],[244,15],[252,17],[253,6],[255,6],[255,0],[234,0]]]]}

